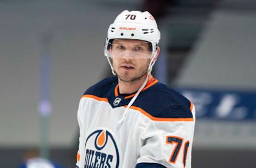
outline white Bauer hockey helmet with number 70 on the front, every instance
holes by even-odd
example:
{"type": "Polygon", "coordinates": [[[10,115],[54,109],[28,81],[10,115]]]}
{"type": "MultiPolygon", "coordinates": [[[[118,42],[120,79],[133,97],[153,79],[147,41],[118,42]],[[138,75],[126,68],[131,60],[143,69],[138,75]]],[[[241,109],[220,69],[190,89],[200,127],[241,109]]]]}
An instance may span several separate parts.
{"type": "MultiPolygon", "coordinates": [[[[108,28],[108,36],[105,41],[104,54],[107,56],[111,69],[109,48],[111,46],[110,41],[113,39],[137,39],[149,42],[151,45],[151,57],[154,58],[157,55],[157,47],[160,39],[160,32],[157,28],[154,17],[148,12],[140,11],[123,11],[120,13],[114,23],[110,24],[108,28]]],[[[149,67],[151,71],[155,61],[152,61],[149,67]]],[[[114,73],[115,74],[115,73],[114,73]]]]}

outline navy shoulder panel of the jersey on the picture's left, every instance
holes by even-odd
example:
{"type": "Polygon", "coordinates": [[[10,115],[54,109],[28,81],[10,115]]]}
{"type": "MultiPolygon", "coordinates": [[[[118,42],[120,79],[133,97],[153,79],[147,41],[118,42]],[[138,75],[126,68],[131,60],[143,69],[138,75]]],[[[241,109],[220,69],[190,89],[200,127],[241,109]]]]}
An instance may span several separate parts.
{"type": "Polygon", "coordinates": [[[117,82],[117,77],[108,77],[87,89],[84,95],[107,97],[111,87],[117,82]]]}

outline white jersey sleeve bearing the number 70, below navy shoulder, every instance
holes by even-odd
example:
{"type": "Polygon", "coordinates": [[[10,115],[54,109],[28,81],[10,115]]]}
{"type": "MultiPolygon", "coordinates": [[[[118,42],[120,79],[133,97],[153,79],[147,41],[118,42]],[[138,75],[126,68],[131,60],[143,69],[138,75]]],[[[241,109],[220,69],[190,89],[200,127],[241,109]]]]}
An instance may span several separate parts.
{"type": "Polygon", "coordinates": [[[195,108],[191,109],[193,120],[151,121],[141,135],[145,141],[140,149],[137,167],[191,167],[191,146],[194,136],[195,108]],[[154,164],[153,164],[154,163],[154,164]]]}

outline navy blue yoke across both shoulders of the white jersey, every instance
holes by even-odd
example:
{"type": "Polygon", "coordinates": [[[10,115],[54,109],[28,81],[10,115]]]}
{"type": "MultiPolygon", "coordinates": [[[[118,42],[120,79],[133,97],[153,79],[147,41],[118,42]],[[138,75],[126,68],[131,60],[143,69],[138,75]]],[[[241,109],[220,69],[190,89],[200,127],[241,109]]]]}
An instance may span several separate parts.
{"type": "MultiPolygon", "coordinates": [[[[117,77],[105,78],[87,89],[84,95],[108,98],[109,104],[113,108],[128,105],[132,97],[124,99],[122,95],[118,95],[121,102],[116,106],[113,105],[117,98],[114,93],[117,83],[117,77]]],[[[190,101],[160,82],[142,91],[132,106],[140,107],[154,117],[193,118],[190,101]]]]}

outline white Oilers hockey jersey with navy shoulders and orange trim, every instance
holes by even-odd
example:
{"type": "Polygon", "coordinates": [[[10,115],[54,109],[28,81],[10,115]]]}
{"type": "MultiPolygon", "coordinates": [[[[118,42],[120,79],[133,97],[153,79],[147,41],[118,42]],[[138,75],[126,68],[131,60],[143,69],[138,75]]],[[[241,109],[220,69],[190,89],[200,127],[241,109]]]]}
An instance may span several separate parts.
{"type": "Polygon", "coordinates": [[[76,167],[191,167],[194,105],[153,78],[122,120],[134,95],[118,93],[117,77],[85,92],[76,167]]]}

